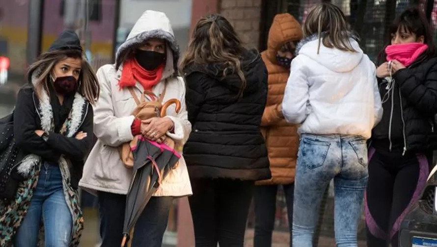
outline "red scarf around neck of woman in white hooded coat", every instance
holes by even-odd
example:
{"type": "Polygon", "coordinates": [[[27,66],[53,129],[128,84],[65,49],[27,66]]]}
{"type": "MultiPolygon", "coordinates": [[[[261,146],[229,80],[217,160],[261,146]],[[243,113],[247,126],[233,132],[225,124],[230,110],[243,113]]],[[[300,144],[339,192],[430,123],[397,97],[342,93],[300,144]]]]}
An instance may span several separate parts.
{"type": "Polygon", "coordinates": [[[123,71],[118,86],[121,90],[124,87],[133,87],[136,82],[139,82],[144,90],[152,90],[152,87],[161,81],[163,71],[164,64],[153,71],[147,71],[138,64],[137,59],[132,58],[123,63],[123,71]]]}

